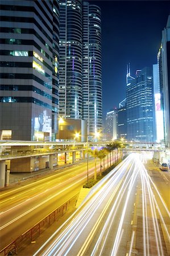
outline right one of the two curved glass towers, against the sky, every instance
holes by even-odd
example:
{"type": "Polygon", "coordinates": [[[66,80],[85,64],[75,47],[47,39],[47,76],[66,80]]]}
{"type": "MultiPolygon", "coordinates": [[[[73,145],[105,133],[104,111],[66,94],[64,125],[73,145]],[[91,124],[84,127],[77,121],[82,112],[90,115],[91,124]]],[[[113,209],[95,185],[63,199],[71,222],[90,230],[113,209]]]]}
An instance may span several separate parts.
{"type": "Polygon", "coordinates": [[[83,118],[88,134],[102,129],[101,10],[84,2],[83,20],[83,118]]]}

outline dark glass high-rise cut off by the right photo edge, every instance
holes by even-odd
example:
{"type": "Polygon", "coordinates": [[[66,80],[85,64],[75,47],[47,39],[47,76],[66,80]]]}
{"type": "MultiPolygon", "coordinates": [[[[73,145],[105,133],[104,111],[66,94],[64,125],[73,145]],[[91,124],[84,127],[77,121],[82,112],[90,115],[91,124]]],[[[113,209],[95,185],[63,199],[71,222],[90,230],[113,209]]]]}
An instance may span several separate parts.
{"type": "Polygon", "coordinates": [[[167,26],[162,31],[162,40],[157,55],[160,76],[160,101],[164,118],[165,145],[170,147],[170,15],[167,26]]]}

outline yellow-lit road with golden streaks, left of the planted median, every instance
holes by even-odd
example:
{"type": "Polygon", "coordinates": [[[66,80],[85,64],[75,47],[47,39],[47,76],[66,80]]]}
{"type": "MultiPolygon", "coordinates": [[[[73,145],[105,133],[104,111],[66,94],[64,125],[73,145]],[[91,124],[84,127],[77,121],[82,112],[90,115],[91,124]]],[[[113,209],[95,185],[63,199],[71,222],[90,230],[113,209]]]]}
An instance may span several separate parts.
{"type": "MultiPolygon", "coordinates": [[[[99,161],[97,168],[99,171],[99,161]]],[[[94,162],[89,160],[89,177],[94,162]]],[[[0,192],[1,249],[32,228],[61,204],[76,196],[87,177],[86,163],[68,166],[40,179],[0,192]]]]}

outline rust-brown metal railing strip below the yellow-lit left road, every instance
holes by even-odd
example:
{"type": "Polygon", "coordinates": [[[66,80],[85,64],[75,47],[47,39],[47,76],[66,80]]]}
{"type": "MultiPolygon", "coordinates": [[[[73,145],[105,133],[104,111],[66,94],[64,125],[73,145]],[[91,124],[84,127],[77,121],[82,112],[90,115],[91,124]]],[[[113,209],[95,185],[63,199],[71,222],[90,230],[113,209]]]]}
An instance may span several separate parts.
{"type": "Polygon", "coordinates": [[[11,242],[9,245],[3,248],[0,251],[0,255],[9,256],[17,254],[18,249],[22,247],[24,243],[26,243],[27,241],[34,242],[35,239],[39,237],[46,228],[49,227],[49,225],[57,221],[59,217],[63,216],[63,214],[67,212],[70,204],[74,203],[74,205],[76,205],[76,199],[77,196],[73,196],[67,201],[67,203],[62,204],[59,208],[53,210],[53,212],[44,217],[43,220],[39,221],[31,229],[27,230],[25,233],[16,238],[15,241],[11,242]]]}

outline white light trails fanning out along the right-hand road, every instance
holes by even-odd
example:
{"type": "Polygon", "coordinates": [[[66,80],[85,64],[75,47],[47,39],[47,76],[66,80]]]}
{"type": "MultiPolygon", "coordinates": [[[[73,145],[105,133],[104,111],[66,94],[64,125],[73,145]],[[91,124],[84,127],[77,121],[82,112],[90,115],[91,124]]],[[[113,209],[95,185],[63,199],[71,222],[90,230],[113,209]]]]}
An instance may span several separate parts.
{"type": "MultiPolygon", "coordinates": [[[[160,216],[167,233],[168,229],[165,225],[164,216],[161,214],[159,204],[154,196],[154,191],[152,190],[152,187],[154,187],[155,191],[157,191],[157,188],[148,175],[146,168],[144,168],[142,161],[145,162],[145,156],[142,156],[142,158],[139,157],[139,154],[127,156],[126,160],[114,168],[113,171],[91,189],[89,195],[80,205],[80,208],[74,212],[73,216],[61,228],[56,230],[33,256],[83,256],[87,255],[88,250],[91,250],[90,253],[88,251],[90,256],[101,256],[105,254],[105,246],[108,243],[107,240],[109,240],[111,228],[117,221],[115,216],[121,207],[119,222],[117,228],[114,230],[115,238],[113,244],[110,245],[110,253],[108,252],[108,255],[118,256],[122,239],[125,236],[123,223],[126,220],[128,202],[131,198],[132,191],[136,195],[136,189],[140,189],[140,186],[136,186],[139,178],[142,186],[143,256],[149,256],[151,247],[154,245],[156,245],[155,250],[157,250],[157,256],[164,255],[159,223],[157,221],[158,216],[160,216]],[[109,213],[107,216],[108,210],[109,213]],[[150,241],[151,224],[154,230],[154,245],[150,241]],[[98,229],[100,232],[97,237],[98,229]],[[94,238],[95,243],[93,247],[94,238]],[[77,246],[80,246],[80,249],[77,246]]],[[[157,196],[169,216],[169,211],[159,192],[157,196]]],[[[130,223],[128,225],[131,226],[130,223]]],[[[134,240],[135,232],[133,230],[129,239],[131,241],[129,255],[132,254],[134,240]]]]}

